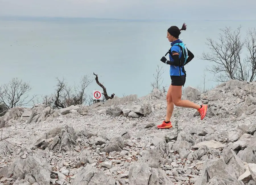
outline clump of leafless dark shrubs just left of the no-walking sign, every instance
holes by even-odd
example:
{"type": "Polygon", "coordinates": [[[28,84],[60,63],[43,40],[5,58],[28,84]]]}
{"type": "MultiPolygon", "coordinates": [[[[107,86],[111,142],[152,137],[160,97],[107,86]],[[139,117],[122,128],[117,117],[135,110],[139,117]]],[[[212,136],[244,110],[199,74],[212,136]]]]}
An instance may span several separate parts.
{"type": "Polygon", "coordinates": [[[86,88],[92,83],[89,75],[84,75],[80,79],[80,84],[72,88],[64,79],[57,78],[55,94],[43,96],[43,103],[52,108],[66,108],[71,105],[81,105],[87,102],[86,88]]]}

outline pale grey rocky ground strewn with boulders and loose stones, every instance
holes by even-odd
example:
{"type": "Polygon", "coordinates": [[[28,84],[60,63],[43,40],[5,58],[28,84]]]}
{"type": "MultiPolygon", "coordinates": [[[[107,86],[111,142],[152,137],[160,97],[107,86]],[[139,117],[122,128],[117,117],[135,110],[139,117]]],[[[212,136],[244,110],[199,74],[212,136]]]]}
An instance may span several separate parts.
{"type": "Polygon", "coordinates": [[[171,129],[158,90],[53,110],[44,105],[0,117],[0,185],[256,184],[256,83],[231,80],[184,98],[208,104],[174,107],[171,129]],[[12,136],[13,135],[13,136],[12,136]]]}

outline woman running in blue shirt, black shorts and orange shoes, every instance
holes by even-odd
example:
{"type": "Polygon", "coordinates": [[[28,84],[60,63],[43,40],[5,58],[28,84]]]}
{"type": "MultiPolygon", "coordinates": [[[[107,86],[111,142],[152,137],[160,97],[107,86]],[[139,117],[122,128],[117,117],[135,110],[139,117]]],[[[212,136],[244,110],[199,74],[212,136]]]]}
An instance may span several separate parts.
{"type": "Polygon", "coordinates": [[[201,120],[204,119],[206,115],[207,105],[197,105],[189,100],[181,100],[182,86],[184,86],[186,80],[184,64],[187,64],[194,58],[193,53],[191,53],[191,51],[189,51],[185,44],[183,44],[183,42],[179,39],[179,35],[181,33],[180,31],[186,29],[187,26],[185,23],[183,23],[181,29],[179,29],[177,26],[171,26],[167,30],[167,38],[169,42],[171,42],[171,49],[168,52],[170,60],[167,60],[165,56],[163,56],[161,61],[170,65],[170,76],[172,83],[166,94],[166,118],[162,124],[157,125],[157,128],[159,129],[167,129],[172,127],[170,119],[174,105],[196,109],[201,115],[201,120]]]}

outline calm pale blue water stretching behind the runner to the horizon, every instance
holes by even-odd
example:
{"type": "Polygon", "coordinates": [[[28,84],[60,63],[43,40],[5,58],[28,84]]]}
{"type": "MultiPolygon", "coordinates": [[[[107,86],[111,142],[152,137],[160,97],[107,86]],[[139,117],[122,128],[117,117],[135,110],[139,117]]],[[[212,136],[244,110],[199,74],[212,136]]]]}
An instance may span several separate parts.
{"type": "MultiPolygon", "coordinates": [[[[216,39],[219,28],[240,24],[242,33],[256,21],[202,21],[185,20],[187,30],[180,35],[195,58],[185,66],[188,85],[203,82],[201,76],[207,61],[199,59],[207,37],[216,39]]],[[[93,72],[105,85],[108,94],[150,93],[150,82],[157,64],[164,65],[163,85],[170,85],[169,66],[160,58],[170,48],[167,29],[183,21],[133,21],[100,19],[12,19],[0,18],[1,84],[13,77],[29,82],[32,94],[54,93],[56,77],[64,77],[70,85],[80,77],[93,72]]],[[[207,79],[212,74],[207,72],[207,79]]],[[[215,86],[213,81],[207,87],[215,86]]],[[[102,90],[93,81],[88,94],[102,90]]]]}

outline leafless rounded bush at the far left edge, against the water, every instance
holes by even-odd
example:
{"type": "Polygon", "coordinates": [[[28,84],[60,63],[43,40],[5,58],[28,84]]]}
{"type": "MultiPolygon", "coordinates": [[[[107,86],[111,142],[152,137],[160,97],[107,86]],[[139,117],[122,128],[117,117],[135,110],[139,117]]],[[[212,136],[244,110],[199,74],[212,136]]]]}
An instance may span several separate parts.
{"type": "Polygon", "coordinates": [[[36,97],[33,95],[29,98],[28,93],[31,87],[28,83],[13,78],[9,83],[0,87],[0,103],[8,108],[17,106],[26,106],[36,97]]]}

